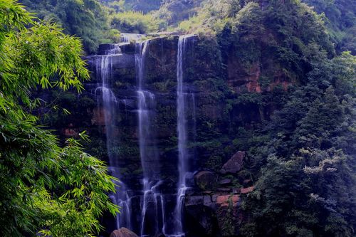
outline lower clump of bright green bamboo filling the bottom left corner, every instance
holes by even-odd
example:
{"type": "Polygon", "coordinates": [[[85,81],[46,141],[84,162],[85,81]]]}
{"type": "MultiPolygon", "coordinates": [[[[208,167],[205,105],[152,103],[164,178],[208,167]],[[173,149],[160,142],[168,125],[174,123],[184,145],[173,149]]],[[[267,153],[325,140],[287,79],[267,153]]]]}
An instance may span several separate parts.
{"type": "Polygon", "coordinates": [[[107,167],[77,141],[58,147],[30,115],[1,112],[0,120],[1,236],[90,235],[103,211],[118,211],[105,194],[115,191],[107,167]]]}

